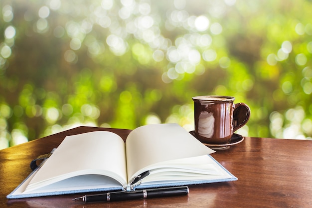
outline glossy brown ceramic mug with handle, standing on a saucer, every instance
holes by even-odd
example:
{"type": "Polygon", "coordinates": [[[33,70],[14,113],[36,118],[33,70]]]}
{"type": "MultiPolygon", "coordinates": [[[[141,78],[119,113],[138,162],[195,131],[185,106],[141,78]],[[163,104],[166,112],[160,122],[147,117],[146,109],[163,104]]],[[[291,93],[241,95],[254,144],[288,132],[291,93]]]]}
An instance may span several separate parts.
{"type": "Polygon", "coordinates": [[[227,144],[233,132],[244,126],[250,117],[245,103],[234,104],[234,97],[205,95],[194,101],[195,137],[208,144],[227,144]]]}

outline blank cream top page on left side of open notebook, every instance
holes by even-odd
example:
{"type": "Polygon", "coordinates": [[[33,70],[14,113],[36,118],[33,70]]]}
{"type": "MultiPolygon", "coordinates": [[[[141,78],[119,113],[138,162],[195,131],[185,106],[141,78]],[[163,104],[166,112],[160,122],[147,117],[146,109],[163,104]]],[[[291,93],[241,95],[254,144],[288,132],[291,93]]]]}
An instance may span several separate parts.
{"type": "Polygon", "coordinates": [[[67,136],[26,190],[88,174],[106,175],[127,185],[125,143],[120,136],[108,131],[67,136]]]}

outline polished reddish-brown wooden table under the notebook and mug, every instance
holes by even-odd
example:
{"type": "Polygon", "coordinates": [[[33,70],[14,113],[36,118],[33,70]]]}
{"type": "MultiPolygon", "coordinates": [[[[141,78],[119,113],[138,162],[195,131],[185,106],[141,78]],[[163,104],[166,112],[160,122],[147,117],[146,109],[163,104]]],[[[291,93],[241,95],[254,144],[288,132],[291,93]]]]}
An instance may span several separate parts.
{"type": "Polygon", "coordinates": [[[49,153],[67,135],[107,130],[126,139],[131,130],[78,127],[0,151],[0,208],[312,208],[312,141],[251,138],[212,156],[238,178],[189,186],[182,197],[127,202],[73,202],[81,194],[7,200],[31,172],[29,163],[49,153]]]}

